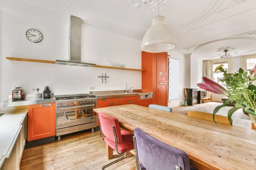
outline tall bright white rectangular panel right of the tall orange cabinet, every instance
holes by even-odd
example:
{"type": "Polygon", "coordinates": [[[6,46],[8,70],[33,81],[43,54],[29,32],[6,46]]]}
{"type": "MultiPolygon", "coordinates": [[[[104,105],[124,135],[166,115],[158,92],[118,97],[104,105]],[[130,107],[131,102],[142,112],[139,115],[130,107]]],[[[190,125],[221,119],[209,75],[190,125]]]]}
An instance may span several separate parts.
{"type": "Polygon", "coordinates": [[[180,99],[180,60],[168,58],[168,100],[180,99]]]}

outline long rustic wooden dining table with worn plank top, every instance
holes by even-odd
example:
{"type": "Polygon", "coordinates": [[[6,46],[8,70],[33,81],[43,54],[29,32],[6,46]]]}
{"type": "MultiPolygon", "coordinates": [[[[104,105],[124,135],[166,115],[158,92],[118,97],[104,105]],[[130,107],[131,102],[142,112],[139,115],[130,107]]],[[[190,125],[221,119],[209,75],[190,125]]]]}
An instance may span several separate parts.
{"type": "MultiPolygon", "coordinates": [[[[199,170],[256,170],[256,130],[170,113],[139,105],[96,108],[116,117],[120,127],[139,127],[154,138],[185,151],[199,170]]],[[[110,147],[106,147],[111,158],[110,147]]]]}

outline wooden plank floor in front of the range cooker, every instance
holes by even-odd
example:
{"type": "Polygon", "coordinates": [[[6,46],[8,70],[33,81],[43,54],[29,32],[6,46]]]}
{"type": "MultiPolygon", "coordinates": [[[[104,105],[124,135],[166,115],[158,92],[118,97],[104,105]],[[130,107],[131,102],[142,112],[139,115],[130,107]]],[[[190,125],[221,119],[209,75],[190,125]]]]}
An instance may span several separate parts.
{"type": "MultiPolygon", "coordinates": [[[[20,170],[100,170],[101,167],[120,156],[108,160],[105,142],[99,131],[64,136],[60,141],[26,148],[20,161],[20,170]]],[[[126,158],[105,170],[135,170],[135,156],[126,158]]]]}

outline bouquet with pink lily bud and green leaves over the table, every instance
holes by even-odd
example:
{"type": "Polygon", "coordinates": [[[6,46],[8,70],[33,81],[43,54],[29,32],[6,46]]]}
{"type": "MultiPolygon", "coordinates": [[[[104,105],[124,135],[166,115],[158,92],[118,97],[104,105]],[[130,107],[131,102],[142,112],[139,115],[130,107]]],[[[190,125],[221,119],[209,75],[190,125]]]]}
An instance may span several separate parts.
{"type": "Polygon", "coordinates": [[[224,70],[222,67],[223,65],[219,65],[215,71],[223,72],[224,77],[220,78],[220,81],[224,83],[225,88],[207,77],[203,77],[204,83],[197,84],[199,88],[229,97],[223,105],[214,109],[213,120],[215,113],[221,108],[227,106],[230,102],[236,102],[235,107],[231,108],[227,113],[230,124],[232,125],[232,114],[238,109],[244,108],[249,113],[252,122],[256,125],[256,66],[249,73],[239,68],[239,71],[235,74],[227,73],[227,69],[224,70]]]}

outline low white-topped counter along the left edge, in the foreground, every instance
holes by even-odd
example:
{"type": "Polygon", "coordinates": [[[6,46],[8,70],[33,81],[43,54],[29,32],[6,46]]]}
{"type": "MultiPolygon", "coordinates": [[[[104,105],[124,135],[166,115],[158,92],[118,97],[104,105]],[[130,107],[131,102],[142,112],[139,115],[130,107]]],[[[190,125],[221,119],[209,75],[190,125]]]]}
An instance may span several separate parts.
{"type": "Polygon", "coordinates": [[[5,114],[0,117],[0,168],[12,152],[27,112],[27,108],[1,111],[5,114]]]}

